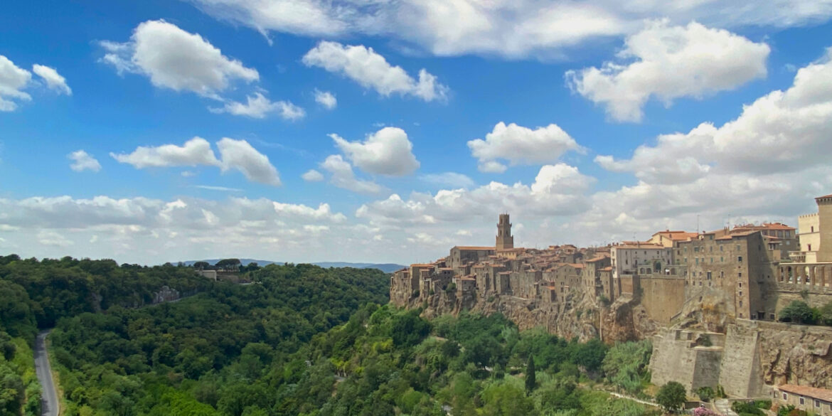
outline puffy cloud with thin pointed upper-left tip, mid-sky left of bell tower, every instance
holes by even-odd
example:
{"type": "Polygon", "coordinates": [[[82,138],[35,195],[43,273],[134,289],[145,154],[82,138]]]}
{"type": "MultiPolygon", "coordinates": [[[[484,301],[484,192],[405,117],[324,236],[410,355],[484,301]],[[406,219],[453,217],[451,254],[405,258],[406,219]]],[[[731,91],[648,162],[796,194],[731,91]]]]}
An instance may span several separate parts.
{"type": "Polygon", "coordinates": [[[346,141],[337,134],[329,137],[349,161],[362,171],[387,176],[406,176],[418,169],[413,143],[399,127],[384,127],[367,136],[364,142],[346,141]]]}

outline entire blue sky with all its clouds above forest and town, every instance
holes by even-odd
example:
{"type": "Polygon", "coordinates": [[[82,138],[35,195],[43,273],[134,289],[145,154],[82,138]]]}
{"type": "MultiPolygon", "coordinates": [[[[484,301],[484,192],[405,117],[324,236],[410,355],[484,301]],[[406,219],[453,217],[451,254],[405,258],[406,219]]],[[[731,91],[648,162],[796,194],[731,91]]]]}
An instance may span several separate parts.
{"type": "Polygon", "coordinates": [[[0,254],[409,264],[815,212],[832,0],[11,2],[0,254]]]}

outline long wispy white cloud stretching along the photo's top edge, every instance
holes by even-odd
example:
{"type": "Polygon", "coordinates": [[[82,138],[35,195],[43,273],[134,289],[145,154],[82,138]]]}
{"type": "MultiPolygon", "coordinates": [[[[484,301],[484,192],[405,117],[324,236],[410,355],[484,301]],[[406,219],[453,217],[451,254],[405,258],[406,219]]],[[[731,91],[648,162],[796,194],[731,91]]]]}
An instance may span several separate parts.
{"type": "Polygon", "coordinates": [[[587,0],[195,0],[220,20],[258,32],[309,37],[370,35],[439,56],[560,57],[564,50],[599,37],[637,32],[642,22],[666,17],[671,24],[692,20],[712,27],[795,27],[825,22],[829,0],[628,2],[587,0]]]}

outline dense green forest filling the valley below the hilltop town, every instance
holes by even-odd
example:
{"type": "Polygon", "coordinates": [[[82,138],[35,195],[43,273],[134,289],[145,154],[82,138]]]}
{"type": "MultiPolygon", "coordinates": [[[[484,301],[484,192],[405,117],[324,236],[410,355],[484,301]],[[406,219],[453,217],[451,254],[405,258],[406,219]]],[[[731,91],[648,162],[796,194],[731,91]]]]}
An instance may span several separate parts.
{"type": "Polygon", "coordinates": [[[31,364],[19,363],[37,329],[51,326],[67,416],[657,412],[597,389],[643,396],[648,341],[578,343],[519,331],[500,314],[428,321],[387,305],[379,270],[245,273],[250,285],[174,265],[0,258],[0,290],[15,300],[0,307],[0,330],[16,351],[0,371],[19,380],[2,414],[37,414],[26,400],[37,397],[31,364]],[[161,285],[190,296],[151,305],[161,285]]]}

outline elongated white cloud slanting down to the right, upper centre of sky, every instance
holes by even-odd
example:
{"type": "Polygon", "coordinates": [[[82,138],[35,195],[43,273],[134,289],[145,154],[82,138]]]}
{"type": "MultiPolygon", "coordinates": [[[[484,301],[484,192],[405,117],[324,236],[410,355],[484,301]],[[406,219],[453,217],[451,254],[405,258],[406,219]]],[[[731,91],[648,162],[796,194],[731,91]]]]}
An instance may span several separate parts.
{"type": "Polygon", "coordinates": [[[443,101],[448,87],[436,81],[436,77],[422,69],[418,81],[410,77],[402,67],[391,66],[372,47],[342,45],[338,42],[319,42],[306,52],[303,62],[307,67],[322,67],[348,77],[365,88],[373,88],[384,97],[391,94],[410,95],[426,102],[443,101]]]}

